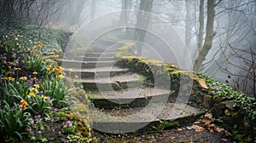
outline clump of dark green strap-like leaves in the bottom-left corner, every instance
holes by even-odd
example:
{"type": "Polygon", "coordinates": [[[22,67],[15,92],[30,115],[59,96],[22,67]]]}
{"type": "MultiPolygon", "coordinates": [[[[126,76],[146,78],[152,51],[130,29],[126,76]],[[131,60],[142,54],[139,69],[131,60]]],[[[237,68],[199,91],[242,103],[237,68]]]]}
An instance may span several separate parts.
{"type": "Polygon", "coordinates": [[[2,137],[19,137],[21,139],[21,135],[25,133],[24,129],[28,122],[28,116],[30,114],[18,108],[16,104],[14,107],[10,107],[4,101],[3,109],[0,109],[0,133],[2,137]]]}

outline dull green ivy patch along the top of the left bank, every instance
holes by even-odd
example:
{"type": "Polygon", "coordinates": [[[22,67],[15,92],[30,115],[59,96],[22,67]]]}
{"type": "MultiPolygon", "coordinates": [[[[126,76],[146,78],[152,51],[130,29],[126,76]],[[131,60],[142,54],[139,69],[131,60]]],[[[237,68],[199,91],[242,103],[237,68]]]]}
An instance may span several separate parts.
{"type": "MultiPolygon", "coordinates": [[[[26,44],[23,47],[20,46],[20,49],[26,50],[26,48],[31,48],[29,44],[32,42],[43,41],[44,48],[42,52],[54,51],[55,49],[61,49],[63,40],[68,42],[68,38],[72,32],[66,31],[62,28],[53,28],[50,26],[35,26],[35,25],[22,25],[21,23],[12,22],[6,25],[1,22],[2,28],[0,30],[0,35],[5,35],[7,32],[11,35],[20,35],[24,37],[23,43],[26,44]],[[22,33],[22,35],[20,34],[22,33]],[[24,49],[25,48],[25,49],[24,49]]],[[[20,51],[17,49],[17,51],[20,51]]]]}

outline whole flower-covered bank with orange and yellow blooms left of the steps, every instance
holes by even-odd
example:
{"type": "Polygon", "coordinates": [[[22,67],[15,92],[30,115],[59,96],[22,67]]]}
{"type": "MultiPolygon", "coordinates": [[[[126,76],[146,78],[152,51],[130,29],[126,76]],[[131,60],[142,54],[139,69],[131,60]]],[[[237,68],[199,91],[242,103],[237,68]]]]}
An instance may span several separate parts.
{"type": "Polygon", "coordinates": [[[1,28],[0,142],[93,141],[89,124],[67,103],[74,89],[64,78],[74,77],[62,73],[58,55],[46,58],[59,43],[32,27],[1,28]]]}

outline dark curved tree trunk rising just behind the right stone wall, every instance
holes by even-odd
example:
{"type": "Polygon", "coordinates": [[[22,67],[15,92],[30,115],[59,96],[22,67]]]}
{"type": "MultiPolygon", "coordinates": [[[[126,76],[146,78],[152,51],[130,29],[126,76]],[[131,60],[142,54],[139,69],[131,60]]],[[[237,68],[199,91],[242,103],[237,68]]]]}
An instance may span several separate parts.
{"type": "Polygon", "coordinates": [[[212,48],[212,40],[214,36],[213,23],[215,17],[214,1],[207,0],[207,34],[203,47],[200,49],[199,54],[195,59],[193,70],[198,72],[202,62],[206,59],[209,50],[212,48]]]}

